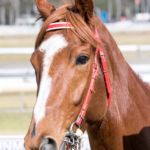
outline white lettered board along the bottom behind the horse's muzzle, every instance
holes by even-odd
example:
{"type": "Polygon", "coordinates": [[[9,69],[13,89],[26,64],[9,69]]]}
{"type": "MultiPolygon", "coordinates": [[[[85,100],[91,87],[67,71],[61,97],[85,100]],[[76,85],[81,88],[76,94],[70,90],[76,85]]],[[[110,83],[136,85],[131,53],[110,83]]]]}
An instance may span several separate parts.
{"type": "MultiPolygon", "coordinates": [[[[81,140],[81,149],[90,150],[87,134],[81,140]]],[[[23,135],[0,136],[0,150],[25,150],[23,135]]]]}

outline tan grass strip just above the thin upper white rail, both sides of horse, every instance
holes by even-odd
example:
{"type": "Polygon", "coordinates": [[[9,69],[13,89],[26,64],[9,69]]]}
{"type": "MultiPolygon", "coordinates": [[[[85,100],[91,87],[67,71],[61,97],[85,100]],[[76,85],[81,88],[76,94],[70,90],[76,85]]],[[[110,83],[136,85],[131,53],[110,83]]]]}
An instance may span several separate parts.
{"type": "MultiPolygon", "coordinates": [[[[150,32],[112,33],[118,44],[150,44],[150,32]]],[[[36,36],[0,37],[0,47],[34,47],[36,36]]]]}

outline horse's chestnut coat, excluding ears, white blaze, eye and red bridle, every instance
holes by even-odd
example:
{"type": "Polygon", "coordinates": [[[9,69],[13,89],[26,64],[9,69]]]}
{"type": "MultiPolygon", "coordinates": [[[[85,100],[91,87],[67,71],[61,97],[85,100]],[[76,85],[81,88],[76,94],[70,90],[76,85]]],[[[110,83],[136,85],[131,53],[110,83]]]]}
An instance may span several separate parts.
{"type": "MultiPolygon", "coordinates": [[[[78,1],[76,7],[77,4],[81,6],[78,1]]],[[[58,146],[61,144],[66,130],[79,113],[82,98],[86,95],[97,45],[104,48],[113,96],[110,110],[107,110],[106,88],[101,72],[84,122],[92,150],[150,150],[150,87],[126,63],[103,23],[91,15],[87,16],[86,22],[82,16],[83,12],[70,9],[74,7],[65,5],[52,12],[43,23],[37,37],[36,49],[44,39],[56,33],[63,34],[69,46],[55,56],[49,69],[53,89],[48,98],[46,117],[37,125],[35,135],[32,136],[35,127],[33,116],[25,138],[26,150],[38,149],[41,139],[45,136],[54,138],[58,146]],[[75,29],[46,33],[48,24],[56,21],[68,21],[75,29]],[[95,38],[95,28],[99,31],[99,40],[95,38]],[[89,62],[76,67],[74,59],[81,53],[89,56],[89,62]],[[82,86],[79,86],[80,84],[82,86]]],[[[36,70],[38,86],[42,58],[43,54],[36,50],[31,59],[36,70]]]]}

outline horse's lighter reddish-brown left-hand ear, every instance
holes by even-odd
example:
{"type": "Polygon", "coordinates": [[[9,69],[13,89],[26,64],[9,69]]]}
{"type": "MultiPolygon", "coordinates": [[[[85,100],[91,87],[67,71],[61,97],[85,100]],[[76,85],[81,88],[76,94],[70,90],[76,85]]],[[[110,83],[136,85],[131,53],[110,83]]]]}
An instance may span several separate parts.
{"type": "Polygon", "coordinates": [[[35,0],[37,9],[44,19],[48,18],[55,10],[55,7],[48,0],[35,0]]]}

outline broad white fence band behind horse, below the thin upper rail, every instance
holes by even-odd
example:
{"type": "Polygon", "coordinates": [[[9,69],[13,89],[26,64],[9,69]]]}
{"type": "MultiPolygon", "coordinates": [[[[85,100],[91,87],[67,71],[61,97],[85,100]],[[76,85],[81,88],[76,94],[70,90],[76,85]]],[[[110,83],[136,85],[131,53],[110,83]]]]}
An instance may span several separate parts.
{"type": "MultiPolygon", "coordinates": [[[[131,68],[145,82],[150,82],[150,64],[132,64],[131,68]]],[[[14,72],[14,70],[0,69],[0,93],[36,91],[34,71],[24,70],[16,69],[14,72]]]]}

